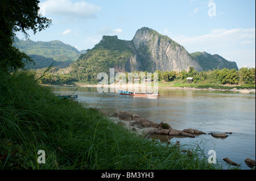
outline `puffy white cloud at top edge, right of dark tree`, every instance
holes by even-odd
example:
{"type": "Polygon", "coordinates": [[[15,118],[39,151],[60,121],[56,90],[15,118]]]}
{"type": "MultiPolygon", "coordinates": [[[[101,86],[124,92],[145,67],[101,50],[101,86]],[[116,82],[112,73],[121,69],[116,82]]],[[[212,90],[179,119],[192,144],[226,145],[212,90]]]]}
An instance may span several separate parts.
{"type": "Polygon", "coordinates": [[[71,0],[48,0],[39,3],[40,13],[46,15],[61,15],[75,18],[96,18],[101,7],[85,1],[72,2],[71,0]]]}

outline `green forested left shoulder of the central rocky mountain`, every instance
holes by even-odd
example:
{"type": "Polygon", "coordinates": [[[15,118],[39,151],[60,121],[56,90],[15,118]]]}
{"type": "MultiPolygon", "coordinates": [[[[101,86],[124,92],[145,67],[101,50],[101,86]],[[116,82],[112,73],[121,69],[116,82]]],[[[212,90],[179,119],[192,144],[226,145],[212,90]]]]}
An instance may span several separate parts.
{"type": "Polygon", "coordinates": [[[109,73],[109,68],[126,71],[126,62],[132,55],[130,41],[119,40],[117,36],[103,36],[100,43],[86,54],[81,54],[79,60],[71,65],[70,74],[79,81],[97,81],[97,74],[109,73]]]}

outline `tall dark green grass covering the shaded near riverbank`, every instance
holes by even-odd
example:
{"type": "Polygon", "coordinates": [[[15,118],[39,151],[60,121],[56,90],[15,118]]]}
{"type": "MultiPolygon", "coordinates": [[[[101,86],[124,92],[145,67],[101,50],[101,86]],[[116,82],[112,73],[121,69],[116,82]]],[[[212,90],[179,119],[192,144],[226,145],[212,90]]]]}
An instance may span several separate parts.
{"type": "Polygon", "coordinates": [[[127,131],[96,110],[57,98],[28,73],[0,74],[0,169],[216,169],[203,151],[127,131]],[[39,164],[38,150],[46,153],[39,164]]]}

